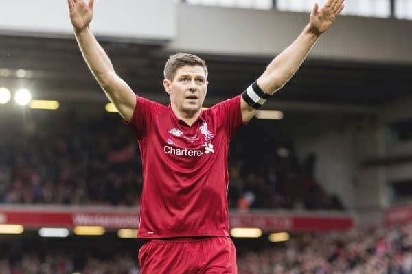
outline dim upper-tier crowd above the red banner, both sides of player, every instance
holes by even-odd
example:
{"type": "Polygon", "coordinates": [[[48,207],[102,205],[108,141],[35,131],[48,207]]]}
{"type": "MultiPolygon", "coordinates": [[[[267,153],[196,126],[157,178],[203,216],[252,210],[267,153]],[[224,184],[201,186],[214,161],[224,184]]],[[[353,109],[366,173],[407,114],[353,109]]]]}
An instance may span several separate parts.
{"type": "MultiPolygon", "coordinates": [[[[0,136],[0,203],[139,204],[139,149],[119,116],[33,112],[20,118],[0,117],[7,132],[0,136]]],[[[255,142],[248,147],[264,129],[253,123],[231,147],[231,208],[343,209],[314,179],[314,155],[299,164],[293,145],[267,136],[267,129],[263,152],[256,153],[255,142]]]]}

